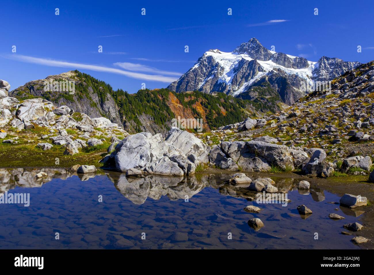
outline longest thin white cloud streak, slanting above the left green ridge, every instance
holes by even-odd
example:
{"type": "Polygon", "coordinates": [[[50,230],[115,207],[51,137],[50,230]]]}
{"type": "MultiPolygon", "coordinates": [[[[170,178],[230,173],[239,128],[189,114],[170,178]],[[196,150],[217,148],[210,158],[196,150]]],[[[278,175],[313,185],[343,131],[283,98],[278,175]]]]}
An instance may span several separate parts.
{"type": "Polygon", "coordinates": [[[39,65],[45,65],[45,66],[51,66],[51,67],[64,67],[64,68],[71,68],[73,70],[85,69],[85,70],[92,70],[92,71],[102,71],[105,73],[122,74],[127,77],[131,77],[134,79],[141,79],[141,80],[149,80],[149,81],[157,81],[157,82],[165,82],[165,83],[171,83],[177,80],[175,77],[170,77],[170,76],[136,73],[133,71],[125,71],[125,70],[120,70],[117,68],[110,68],[110,67],[105,67],[105,66],[100,66],[100,65],[59,61],[55,59],[37,58],[37,57],[26,56],[26,55],[11,54],[11,55],[4,55],[3,57],[7,59],[21,61],[21,62],[27,62],[27,63],[33,63],[33,64],[39,64],[39,65]]]}

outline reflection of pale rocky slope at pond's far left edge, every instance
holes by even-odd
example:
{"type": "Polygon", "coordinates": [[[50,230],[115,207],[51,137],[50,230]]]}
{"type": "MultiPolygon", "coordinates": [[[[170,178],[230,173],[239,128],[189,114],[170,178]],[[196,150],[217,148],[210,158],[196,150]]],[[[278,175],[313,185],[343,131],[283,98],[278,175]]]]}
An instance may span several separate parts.
{"type": "Polygon", "coordinates": [[[15,187],[41,187],[52,178],[67,179],[71,173],[59,168],[0,168],[0,193],[4,193],[15,187]],[[45,172],[46,177],[36,178],[36,174],[45,172]]]}

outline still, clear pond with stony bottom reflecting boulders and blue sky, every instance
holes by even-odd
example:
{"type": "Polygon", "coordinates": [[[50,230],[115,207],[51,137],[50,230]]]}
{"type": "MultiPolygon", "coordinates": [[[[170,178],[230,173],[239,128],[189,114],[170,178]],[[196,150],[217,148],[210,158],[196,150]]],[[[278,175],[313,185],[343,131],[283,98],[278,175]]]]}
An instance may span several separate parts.
{"type": "Polygon", "coordinates": [[[341,231],[362,213],[329,203],[340,197],[320,189],[300,194],[298,180],[274,178],[291,199],[282,207],[247,201],[254,193],[225,184],[227,175],[126,180],[119,173],[82,178],[42,169],[49,177],[36,180],[39,171],[0,169],[0,192],[30,193],[31,200],[30,207],[0,204],[1,248],[359,248],[341,231]],[[313,211],[306,219],[296,210],[301,204],[313,211]],[[246,205],[262,210],[246,213],[246,205]],[[265,224],[257,232],[247,224],[254,217],[265,224]]]}

